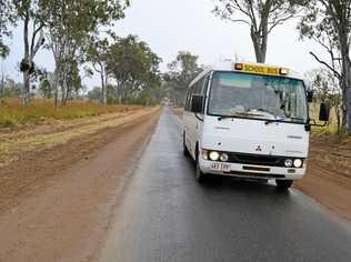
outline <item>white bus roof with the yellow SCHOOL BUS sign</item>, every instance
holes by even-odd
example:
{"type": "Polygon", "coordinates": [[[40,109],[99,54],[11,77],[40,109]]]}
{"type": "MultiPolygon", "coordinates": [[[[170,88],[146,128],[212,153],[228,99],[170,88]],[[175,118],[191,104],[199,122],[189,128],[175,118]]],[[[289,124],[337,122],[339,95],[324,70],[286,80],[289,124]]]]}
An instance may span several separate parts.
{"type": "Polygon", "coordinates": [[[277,75],[277,77],[284,77],[284,78],[293,78],[298,80],[303,80],[303,77],[290,69],[277,67],[267,63],[251,63],[251,62],[237,62],[237,61],[223,61],[212,67],[205,68],[191,83],[195,83],[205,74],[211,71],[233,71],[233,72],[247,72],[247,73],[254,73],[254,74],[262,74],[262,75],[277,75]],[[283,70],[283,71],[282,71],[283,70]],[[282,73],[284,72],[284,73],[282,73]]]}

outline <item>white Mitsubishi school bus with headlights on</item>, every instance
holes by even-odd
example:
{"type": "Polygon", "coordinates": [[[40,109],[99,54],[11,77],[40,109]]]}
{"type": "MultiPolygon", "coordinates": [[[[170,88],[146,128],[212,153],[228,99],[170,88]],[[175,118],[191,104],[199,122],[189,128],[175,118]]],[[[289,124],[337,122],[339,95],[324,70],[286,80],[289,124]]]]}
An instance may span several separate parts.
{"type": "MultiPolygon", "coordinates": [[[[275,180],[288,190],[307,171],[309,118],[303,79],[280,67],[225,62],[190,84],[183,114],[183,152],[197,179],[220,174],[275,180]]],[[[320,121],[329,109],[321,104],[320,121]]]]}

